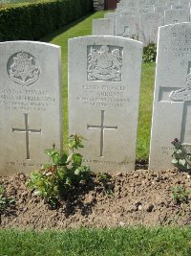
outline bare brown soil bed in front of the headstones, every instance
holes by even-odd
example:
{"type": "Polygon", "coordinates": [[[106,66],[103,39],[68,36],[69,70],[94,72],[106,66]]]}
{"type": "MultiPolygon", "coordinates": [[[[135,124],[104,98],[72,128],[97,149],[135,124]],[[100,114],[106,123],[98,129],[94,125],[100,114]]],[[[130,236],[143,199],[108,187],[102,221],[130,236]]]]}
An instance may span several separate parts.
{"type": "Polygon", "coordinates": [[[191,194],[176,201],[171,187],[191,192],[191,176],[177,169],[164,172],[137,170],[118,173],[107,181],[80,184],[69,191],[57,209],[33,197],[27,176],[0,176],[0,184],[15,204],[0,213],[0,228],[64,229],[126,225],[187,225],[191,222],[191,194]]]}

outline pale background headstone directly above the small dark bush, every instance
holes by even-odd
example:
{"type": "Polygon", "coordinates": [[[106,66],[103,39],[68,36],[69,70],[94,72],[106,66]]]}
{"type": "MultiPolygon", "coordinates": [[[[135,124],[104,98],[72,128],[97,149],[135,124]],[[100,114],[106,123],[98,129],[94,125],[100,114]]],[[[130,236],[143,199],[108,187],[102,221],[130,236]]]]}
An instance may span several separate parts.
{"type": "Polygon", "coordinates": [[[159,12],[147,12],[139,16],[138,40],[144,45],[157,43],[159,27],[162,26],[162,14],[159,12]]]}

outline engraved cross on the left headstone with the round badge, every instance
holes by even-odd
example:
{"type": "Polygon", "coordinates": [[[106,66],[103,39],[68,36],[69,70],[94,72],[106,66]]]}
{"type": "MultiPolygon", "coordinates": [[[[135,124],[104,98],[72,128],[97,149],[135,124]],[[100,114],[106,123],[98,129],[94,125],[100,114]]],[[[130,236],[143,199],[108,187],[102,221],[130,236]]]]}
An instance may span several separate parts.
{"type": "Polygon", "coordinates": [[[30,160],[30,133],[41,133],[41,129],[29,128],[29,114],[24,114],[25,116],[25,128],[12,128],[12,132],[25,132],[26,135],[26,149],[27,149],[27,159],[30,160]]]}

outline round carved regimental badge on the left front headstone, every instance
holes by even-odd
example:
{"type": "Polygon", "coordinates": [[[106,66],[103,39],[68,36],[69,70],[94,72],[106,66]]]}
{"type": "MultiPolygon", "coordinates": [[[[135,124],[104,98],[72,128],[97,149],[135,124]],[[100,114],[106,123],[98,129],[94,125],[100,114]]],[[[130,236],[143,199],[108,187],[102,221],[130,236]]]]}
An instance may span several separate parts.
{"type": "Polygon", "coordinates": [[[22,86],[29,86],[40,77],[38,61],[25,52],[12,55],[8,60],[7,69],[11,80],[22,86]]]}

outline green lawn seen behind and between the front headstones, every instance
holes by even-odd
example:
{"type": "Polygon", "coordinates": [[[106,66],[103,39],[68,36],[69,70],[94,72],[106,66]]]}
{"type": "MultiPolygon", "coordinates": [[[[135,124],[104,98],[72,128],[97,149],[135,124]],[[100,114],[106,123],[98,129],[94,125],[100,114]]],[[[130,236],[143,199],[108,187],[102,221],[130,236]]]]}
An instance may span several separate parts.
{"type": "MultiPolygon", "coordinates": [[[[77,36],[92,35],[92,20],[103,16],[104,12],[96,12],[84,16],[68,26],[65,26],[62,30],[58,30],[52,35],[42,39],[43,41],[51,42],[62,47],[63,124],[65,144],[68,137],[68,39],[77,36]]],[[[138,116],[137,159],[145,160],[148,159],[149,155],[154,80],[155,63],[143,63],[138,116]]]]}

